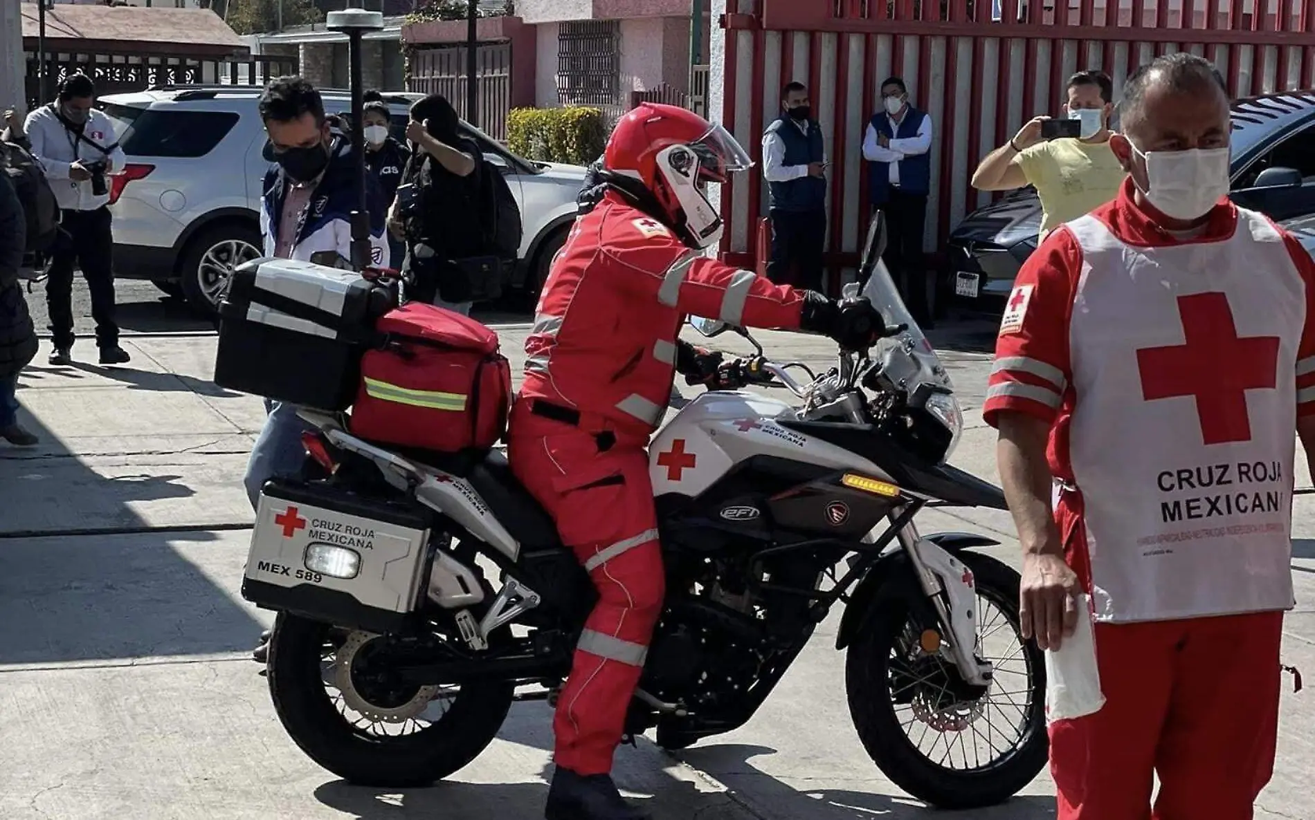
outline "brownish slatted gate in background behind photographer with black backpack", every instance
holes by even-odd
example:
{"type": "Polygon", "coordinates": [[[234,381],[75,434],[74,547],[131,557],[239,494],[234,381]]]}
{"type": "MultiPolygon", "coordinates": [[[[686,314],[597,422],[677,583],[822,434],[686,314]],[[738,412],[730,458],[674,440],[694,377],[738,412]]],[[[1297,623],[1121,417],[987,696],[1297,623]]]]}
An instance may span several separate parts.
{"type": "MultiPolygon", "coordinates": [[[[512,110],[512,43],[481,43],[475,54],[479,83],[479,126],[493,139],[506,139],[512,110]]],[[[466,46],[416,49],[410,57],[406,91],[441,93],[456,113],[466,114],[466,46]]]]}

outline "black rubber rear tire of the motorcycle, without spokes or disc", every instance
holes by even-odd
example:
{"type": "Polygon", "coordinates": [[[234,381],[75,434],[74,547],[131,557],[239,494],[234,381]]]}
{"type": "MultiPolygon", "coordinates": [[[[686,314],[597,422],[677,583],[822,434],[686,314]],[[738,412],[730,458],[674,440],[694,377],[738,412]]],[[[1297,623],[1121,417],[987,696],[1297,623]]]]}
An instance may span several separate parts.
{"type": "Polygon", "coordinates": [[[506,720],[515,687],[463,686],[447,712],[414,735],[367,735],[347,721],[323,689],[321,653],[331,627],[280,612],[270,640],[274,711],[310,760],[348,783],[376,788],[431,786],[484,752],[506,720]]]}

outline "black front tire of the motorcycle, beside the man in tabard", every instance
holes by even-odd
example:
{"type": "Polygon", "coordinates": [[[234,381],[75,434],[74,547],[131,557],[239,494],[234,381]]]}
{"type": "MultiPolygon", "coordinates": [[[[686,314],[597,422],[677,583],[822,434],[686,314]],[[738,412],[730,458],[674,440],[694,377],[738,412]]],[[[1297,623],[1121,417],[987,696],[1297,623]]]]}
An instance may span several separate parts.
{"type": "MultiPolygon", "coordinates": [[[[978,595],[999,608],[1019,635],[1019,574],[980,553],[965,552],[956,557],[972,569],[978,595]]],[[[935,808],[984,808],[1009,800],[1036,778],[1049,757],[1041,650],[1034,641],[1023,641],[1031,696],[1024,712],[1027,724],[1014,748],[984,769],[948,769],[928,760],[913,744],[901,728],[892,703],[892,652],[909,618],[909,604],[902,593],[892,585],[882,587],[872,602],[864,631],[856,636],[846,656],[849,715],[864,749],[892,782],[935,808]]]]}

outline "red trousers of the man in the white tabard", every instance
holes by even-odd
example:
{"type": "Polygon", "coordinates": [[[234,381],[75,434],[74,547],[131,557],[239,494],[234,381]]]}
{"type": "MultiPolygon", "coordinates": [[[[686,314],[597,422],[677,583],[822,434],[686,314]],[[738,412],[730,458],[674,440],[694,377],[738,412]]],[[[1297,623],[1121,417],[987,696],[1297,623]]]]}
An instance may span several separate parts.
{"type": "Polygon", "coordinates": [[[1282,612],[1097,624],[1105,707],[1051,724],[1059,820],[1249,820],[1274,770],[1282,626],[1282,612]]]}

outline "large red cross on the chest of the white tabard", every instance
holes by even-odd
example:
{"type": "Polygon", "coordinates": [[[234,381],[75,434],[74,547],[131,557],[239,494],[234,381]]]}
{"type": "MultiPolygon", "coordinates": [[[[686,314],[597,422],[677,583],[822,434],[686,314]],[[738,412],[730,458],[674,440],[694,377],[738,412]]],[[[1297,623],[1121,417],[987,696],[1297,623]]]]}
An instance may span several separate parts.
{"type": "Polygon", "coordinates": [[[1273,390],[1278,336],[1237,336],[1228,297],[1178,297],[1185,344],[1137,351],[1145,401],[1190,396],[1197,399],[1206,444],[1251,440],[1247,390],[1273,390]]]}

